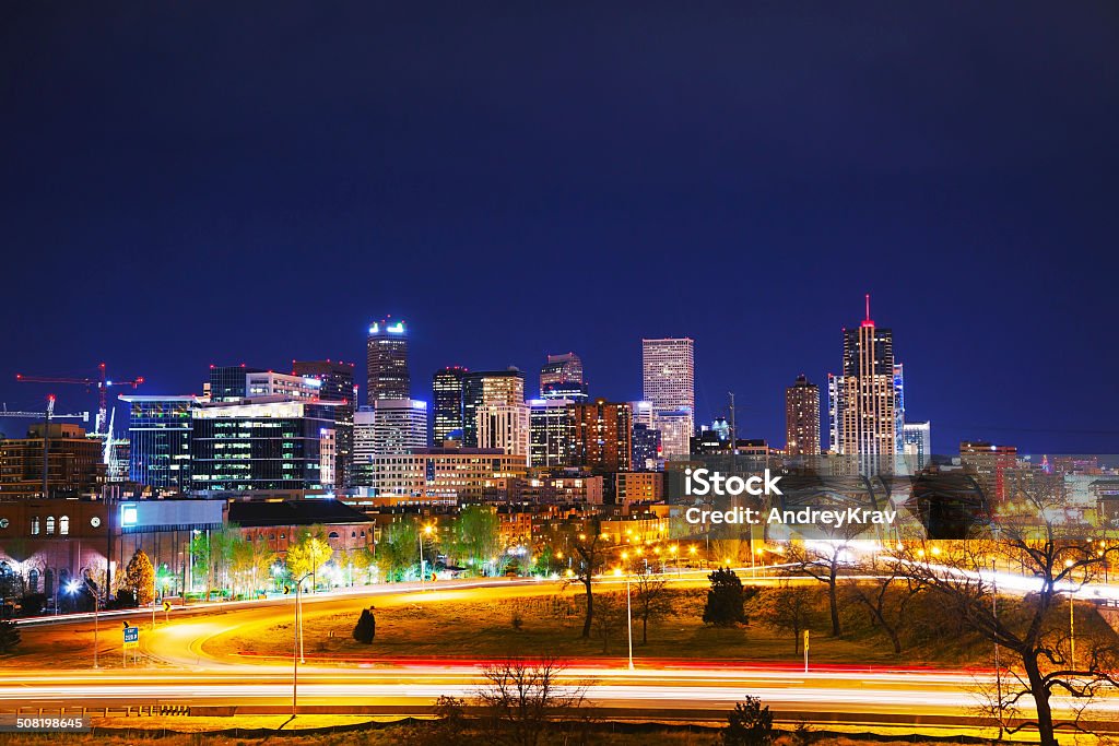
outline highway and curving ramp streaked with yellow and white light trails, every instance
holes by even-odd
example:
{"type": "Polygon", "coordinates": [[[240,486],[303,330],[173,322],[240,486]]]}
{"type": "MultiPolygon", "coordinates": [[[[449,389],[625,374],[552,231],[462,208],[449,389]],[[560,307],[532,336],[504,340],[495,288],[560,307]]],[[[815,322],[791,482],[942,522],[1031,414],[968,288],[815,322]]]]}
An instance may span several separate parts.
{"type": "MultiPolygon", "coordinates": [[[[612,582],[612,580],[609,580],[612,582]]],[[[311,596],[304,617],[352,611],[368,603],[440,603],[510,595],[552,594],[549,583],[481,580],[436,584],[423,592],[398,586],[378,587],[354,595],[311,596]]],[[[290,598],[220,607],[177,610],[171,622],[154,634],[143,632],[149,615],[138,615],[141,651],[156,667],[104,671],[6,671],[0,679],[0,709],[20,707],[88,708],[121,705],[189,705],[197,708],[237,708],[238,712],[290,711],[293,661],[217,658],[207,640],[234,632],[253,634],[290,614],[290,598]]],[[[290,618],[290,616],[288,617],[290,618]]],[[[88,620],[59,622],[88,626],[88,620]]],[[[116,622],[109,625],[119,636],[116,622]]],[[[104,620],[102,629],[105,629],[104,620]]],[[[120,654],[117,652],[117,654],[120,654]]],[[[373,664],[299,667],[300,711],[335,710],[355,714],[419,714],[442,695],[470,697],[481,680],[482,662],[395,660],[373,664]]],[[[745,695],[761,698],[787,718],[815,721],[970,724],[978,705],[977,683],[990,683],[989,673],[927,669],[857,670],[850,667],[814,667],[809,673],[789,665],[745,665],[685,660],[638,659],[628,670],[624,660],[572,661],[563,673],[567,686],[585,687],[587,699],[604,711],[624,711],[664,719],[717,719],[745,695]]],[[[1059,717],[1072,711],[1057,699],[1059,717]]],[[[1116,720],[1119,698],[1093,703],[1091,719],[1116,720]]]]}

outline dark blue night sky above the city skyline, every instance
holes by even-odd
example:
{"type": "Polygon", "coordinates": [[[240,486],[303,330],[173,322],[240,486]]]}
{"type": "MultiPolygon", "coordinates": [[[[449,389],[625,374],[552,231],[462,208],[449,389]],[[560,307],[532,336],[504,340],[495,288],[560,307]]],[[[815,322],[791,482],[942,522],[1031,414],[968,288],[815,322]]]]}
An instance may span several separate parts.
{"type": "Polygon", "coordinates": [[[568,350],[638,398],[690,336],[697,418],[783,445],[869,292],[935,451],[1119,453],[1119,7],[543,4],[0,6],[0,400],[364,378],[392,314],[420,398],[568,350]]]}

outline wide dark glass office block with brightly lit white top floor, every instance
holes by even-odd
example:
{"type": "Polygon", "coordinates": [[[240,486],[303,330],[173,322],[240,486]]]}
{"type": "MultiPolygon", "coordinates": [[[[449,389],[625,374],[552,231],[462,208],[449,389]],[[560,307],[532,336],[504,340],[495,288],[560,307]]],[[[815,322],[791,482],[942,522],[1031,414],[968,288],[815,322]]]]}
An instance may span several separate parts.
{"type": "Polygon", "coordinates": [[[191,491],[332,490],[337,406],[272,396],[192,407],[191,491]]]}

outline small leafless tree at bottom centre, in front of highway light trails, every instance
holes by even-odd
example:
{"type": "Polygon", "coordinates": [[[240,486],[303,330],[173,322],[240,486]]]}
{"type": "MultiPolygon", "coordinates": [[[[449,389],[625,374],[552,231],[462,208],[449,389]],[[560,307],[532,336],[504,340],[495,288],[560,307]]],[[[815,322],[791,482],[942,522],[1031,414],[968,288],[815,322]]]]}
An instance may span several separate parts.
{"type": "Polygon", "coordinates": [[[577,714],[586,686],[560,683],[563,671],[555,658],[510,658],[482,669],[486,683],[478,690],[478,703],[498,743],[536,746],[548,723],[577,714]]]}

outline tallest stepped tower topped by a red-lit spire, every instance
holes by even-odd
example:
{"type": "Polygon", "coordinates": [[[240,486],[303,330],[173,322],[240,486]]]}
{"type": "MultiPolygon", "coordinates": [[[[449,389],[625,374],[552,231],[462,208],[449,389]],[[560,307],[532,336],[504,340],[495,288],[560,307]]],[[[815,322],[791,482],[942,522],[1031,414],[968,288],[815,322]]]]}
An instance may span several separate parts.
{"type": "Polygon", "coordinates": [[[897,453],[896,402],[894,389],[894,343],[890,329],[871,319],[871,296],[866,318],[858,329],[844,329],[843,375],[828,377],[828,410],[838,452],[857,456],[862,474],[893,470],[897,453]]]}

